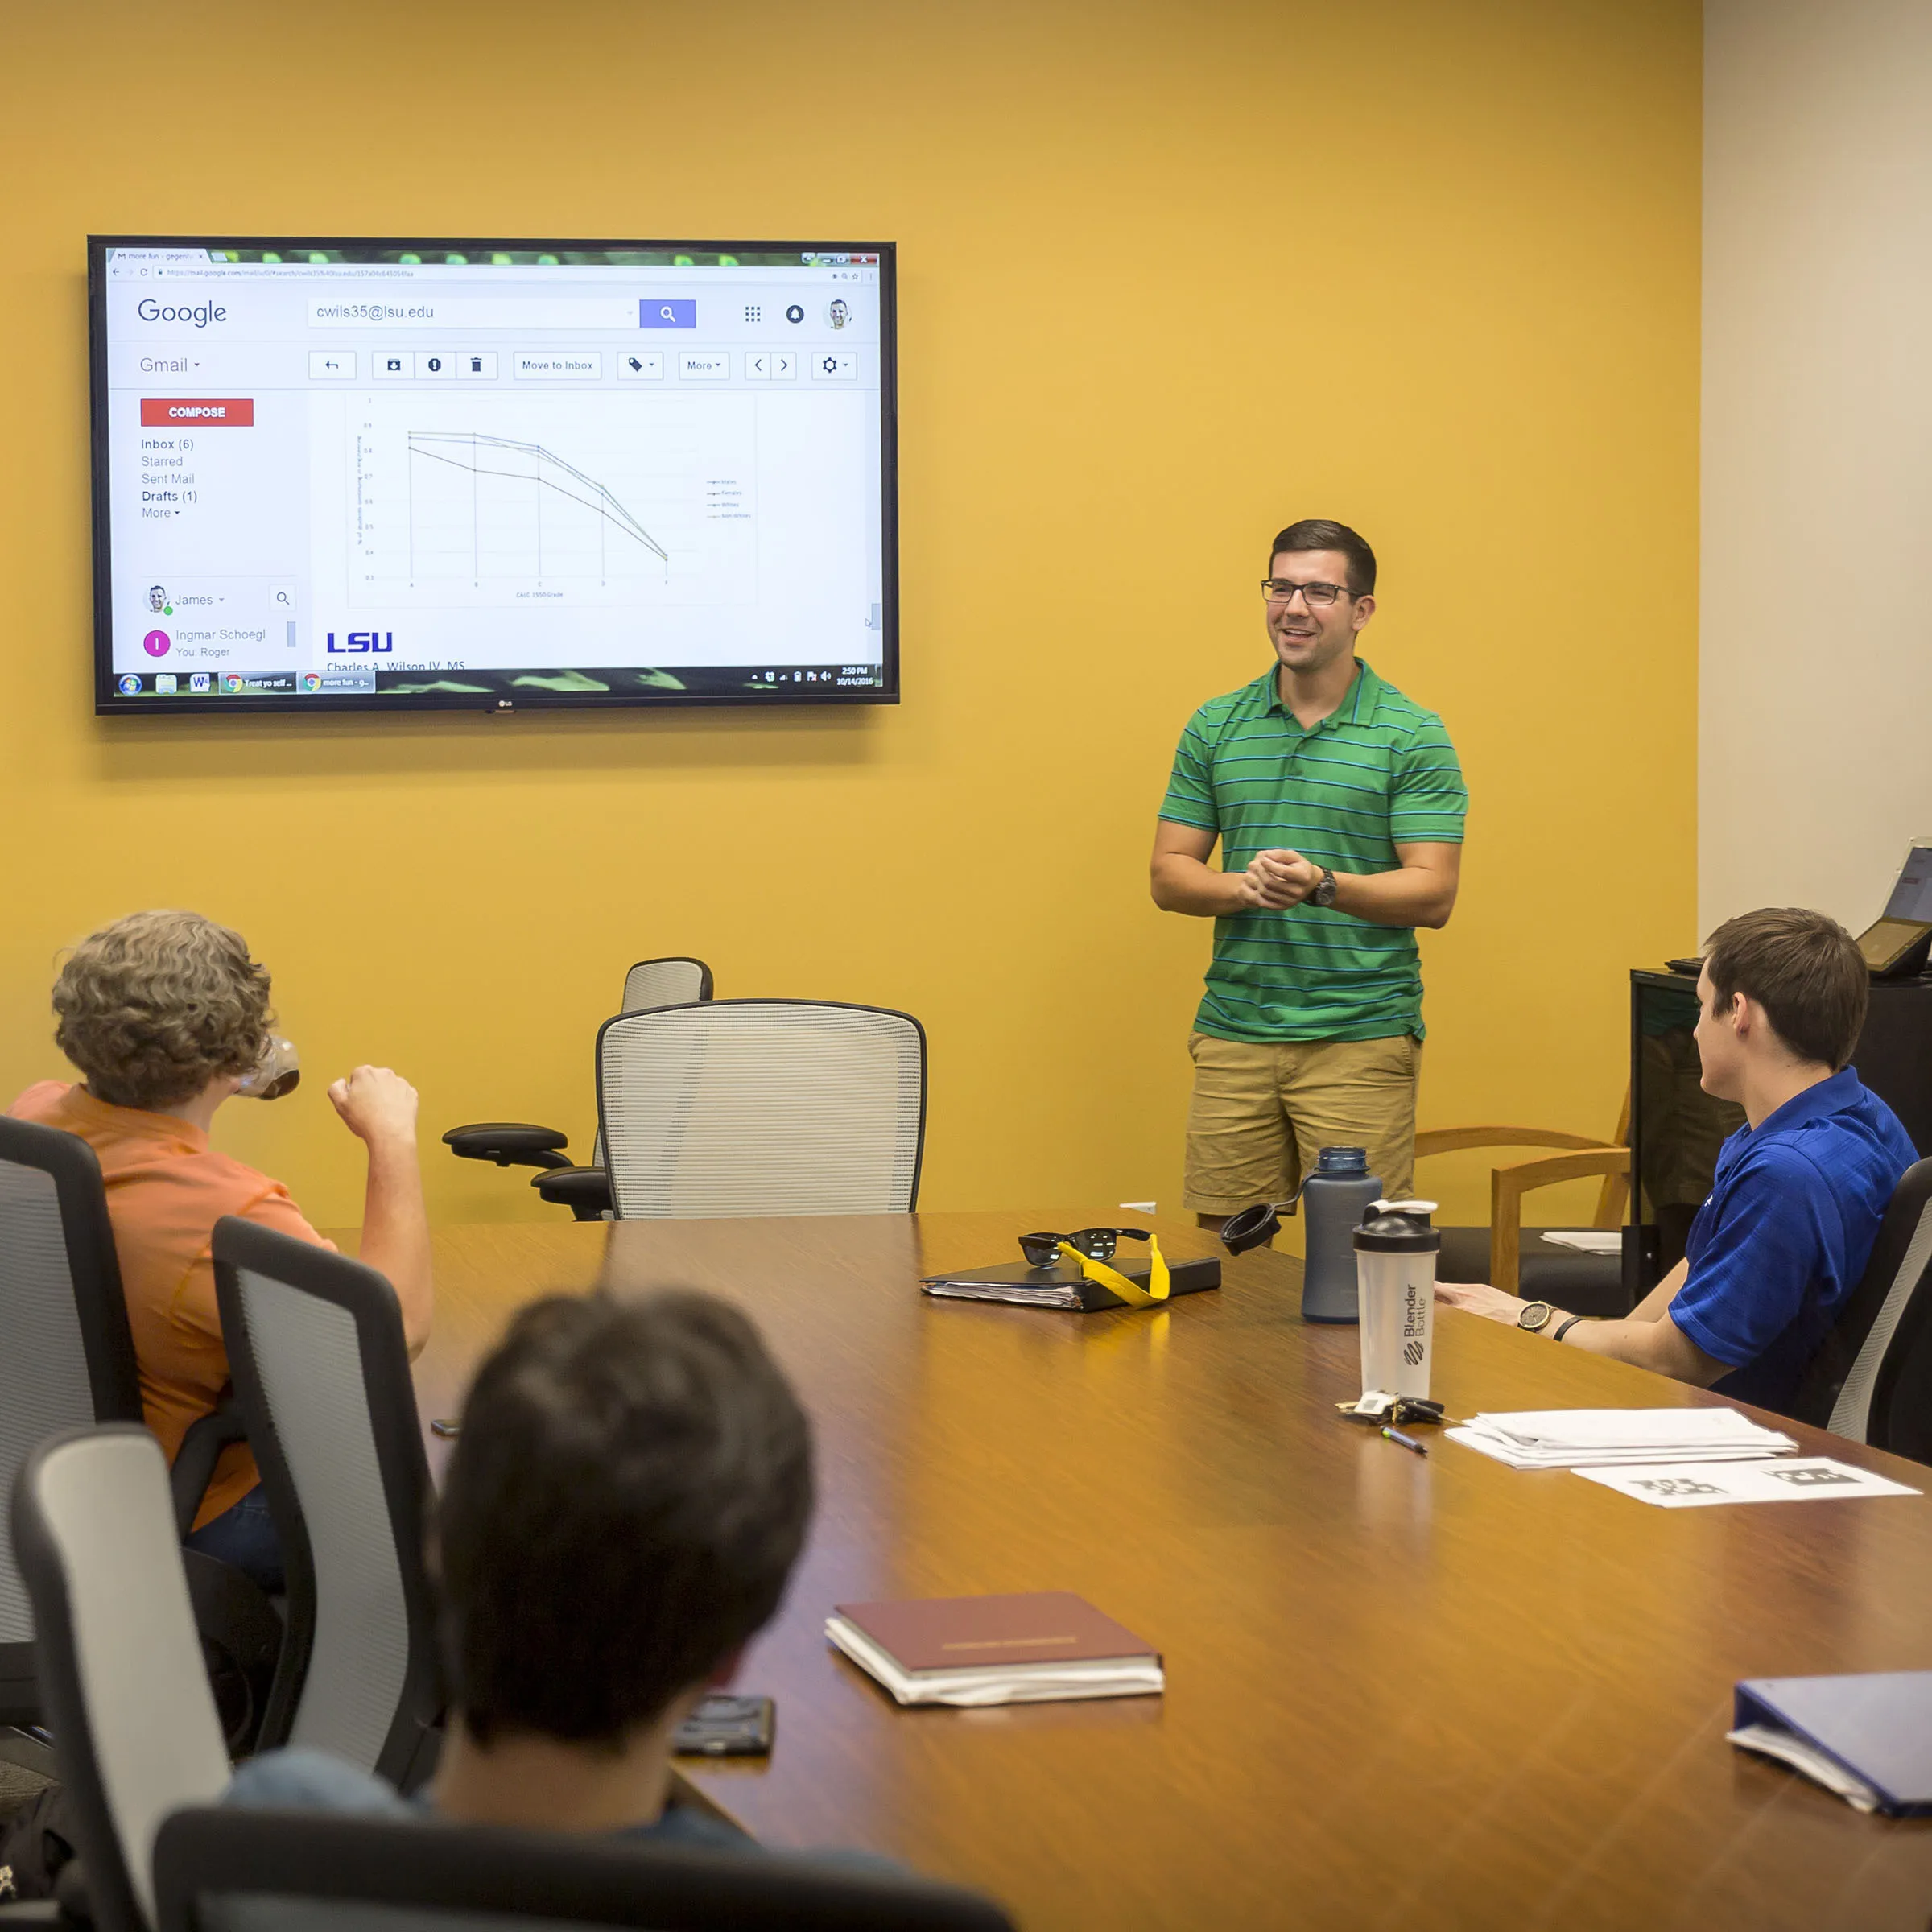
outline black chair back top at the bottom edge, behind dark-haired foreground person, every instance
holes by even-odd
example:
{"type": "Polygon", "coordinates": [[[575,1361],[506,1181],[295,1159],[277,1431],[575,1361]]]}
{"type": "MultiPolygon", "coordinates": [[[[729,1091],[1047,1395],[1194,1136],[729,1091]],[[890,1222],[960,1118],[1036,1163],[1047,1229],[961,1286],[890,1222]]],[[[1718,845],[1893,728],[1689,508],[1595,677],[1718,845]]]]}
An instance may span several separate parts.
{"type": "Polygon", "coordinates": [[[178,1810],[155,1841],[155,1899],[156,1932],[292,1922],[454,1932],[471,1915],[498,1932],[518,1918],[653,1932],[1014,1932],[978,1891],[804,1853],[294,1810],[178,1810]]]}

